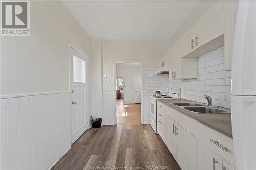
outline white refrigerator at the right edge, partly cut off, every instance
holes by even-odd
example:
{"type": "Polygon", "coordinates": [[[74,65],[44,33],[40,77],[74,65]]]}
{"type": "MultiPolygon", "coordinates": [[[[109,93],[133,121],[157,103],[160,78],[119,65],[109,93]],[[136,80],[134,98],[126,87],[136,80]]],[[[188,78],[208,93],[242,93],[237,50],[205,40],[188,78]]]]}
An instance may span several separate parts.
{"type": "Polygon", "coordinates": [[[238,2],[232,56],[231,115],[238,170],[256,169],[256,1],[238,2]]]}

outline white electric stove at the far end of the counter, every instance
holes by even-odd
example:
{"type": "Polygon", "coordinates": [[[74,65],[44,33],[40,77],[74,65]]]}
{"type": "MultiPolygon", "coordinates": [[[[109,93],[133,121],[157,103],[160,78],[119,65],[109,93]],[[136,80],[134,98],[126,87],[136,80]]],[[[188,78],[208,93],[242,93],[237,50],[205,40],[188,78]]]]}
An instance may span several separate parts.
{"type": "Polygon", "coordinates": [[[156,99],[180,98],[180,88],[170,87],[166,90],[167,95],[150,96],[150,125],[154,132],[157,133],[157,101],[156,99]]]}

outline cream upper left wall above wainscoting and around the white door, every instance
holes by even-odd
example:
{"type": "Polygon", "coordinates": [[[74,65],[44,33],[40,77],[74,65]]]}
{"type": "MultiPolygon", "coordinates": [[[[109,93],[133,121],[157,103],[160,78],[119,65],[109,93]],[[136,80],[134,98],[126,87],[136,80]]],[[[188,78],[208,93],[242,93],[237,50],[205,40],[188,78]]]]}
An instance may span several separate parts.
{"type": "Polygon", "coordinates": [[[30,5],[30,36],[1,38],[1,96],[68,91],[69,42],[90,60],[90,38],[61,2],[30,5]]]}

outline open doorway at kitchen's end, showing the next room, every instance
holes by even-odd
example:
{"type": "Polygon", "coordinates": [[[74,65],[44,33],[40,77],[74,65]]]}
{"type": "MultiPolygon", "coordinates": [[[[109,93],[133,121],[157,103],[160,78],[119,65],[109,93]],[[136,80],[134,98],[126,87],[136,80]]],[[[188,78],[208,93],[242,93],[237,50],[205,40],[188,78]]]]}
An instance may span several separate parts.
{"type": "Polygon", "coordinates": [[[118,124],[142,123],[141,80],[140,62],[116,63],[116,117],[118,124]]]}

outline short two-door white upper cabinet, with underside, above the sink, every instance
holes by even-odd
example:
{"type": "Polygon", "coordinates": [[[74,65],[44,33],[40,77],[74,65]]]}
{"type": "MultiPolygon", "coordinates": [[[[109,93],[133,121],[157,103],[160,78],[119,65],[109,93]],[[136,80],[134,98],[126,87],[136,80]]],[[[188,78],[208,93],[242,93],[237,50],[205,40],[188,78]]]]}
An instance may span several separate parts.
{"type": "Polygon", "coordinates": [[[199,57],[224,45],[224,3],[218,1],[181,37],[182,57],[199,57]]]}

